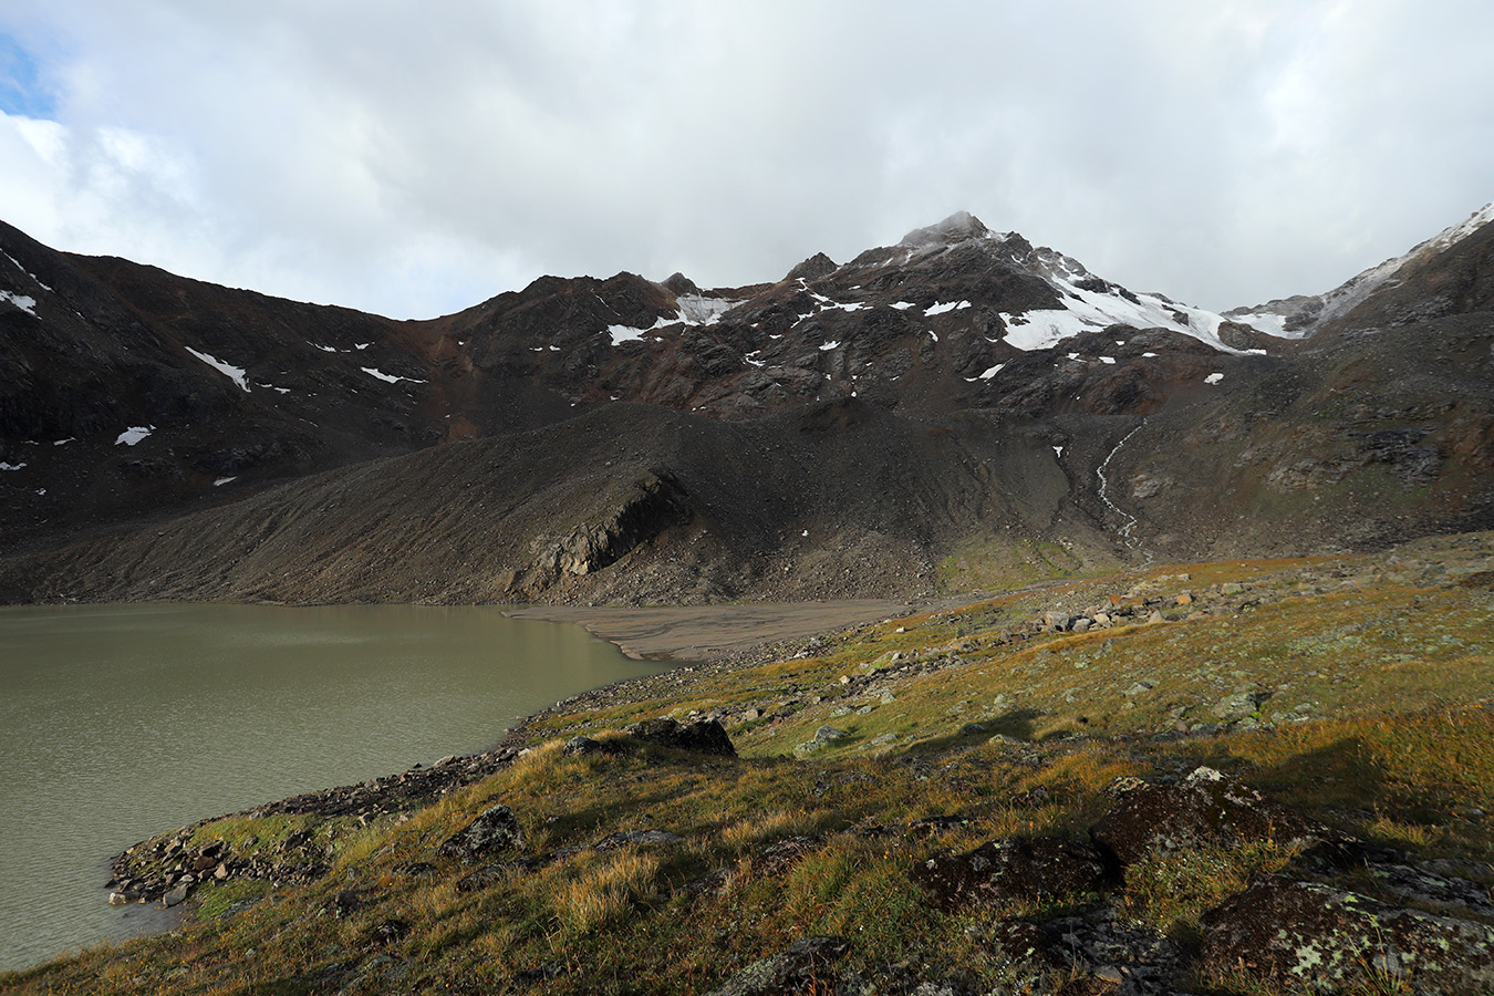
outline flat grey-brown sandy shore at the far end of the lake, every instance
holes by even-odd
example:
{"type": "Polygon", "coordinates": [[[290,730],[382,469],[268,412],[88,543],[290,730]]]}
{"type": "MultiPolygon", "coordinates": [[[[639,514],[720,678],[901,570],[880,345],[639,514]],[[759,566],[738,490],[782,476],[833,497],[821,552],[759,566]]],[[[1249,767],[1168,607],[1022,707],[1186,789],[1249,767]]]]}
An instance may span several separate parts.
{"type": "Polygon", "coordinates": [[[716,660],[762,644],[804,639],[916,611],[919,606],[913,602],[862,599],[651,609],[536,605],[508,615],[583,626],[641,660],[716,660]]]}

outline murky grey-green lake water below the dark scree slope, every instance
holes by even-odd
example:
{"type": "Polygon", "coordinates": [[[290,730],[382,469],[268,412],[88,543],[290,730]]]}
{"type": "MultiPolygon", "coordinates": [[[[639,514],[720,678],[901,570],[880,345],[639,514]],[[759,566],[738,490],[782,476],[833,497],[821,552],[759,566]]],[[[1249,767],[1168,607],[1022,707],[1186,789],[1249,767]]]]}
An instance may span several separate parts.
{"type": "Polygon", "coordinates": [[[146,836],[480,751],[659,669],[492,608],[0,608],[0,969],[157,926],[103,890],[146,836]]]}

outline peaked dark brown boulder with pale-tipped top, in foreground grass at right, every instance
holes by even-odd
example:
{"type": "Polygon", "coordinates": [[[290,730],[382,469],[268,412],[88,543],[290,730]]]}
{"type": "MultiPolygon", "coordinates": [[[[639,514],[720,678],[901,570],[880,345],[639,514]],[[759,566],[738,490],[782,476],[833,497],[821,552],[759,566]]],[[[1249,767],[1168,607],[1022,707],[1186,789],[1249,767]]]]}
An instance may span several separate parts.
{"type": "Polygon", "coordinates": [[[1324,830],[1301,814],[1212,768],[1171,785],[1140,784],[1119,791],[1115,809],[1089,838],[1120,865],[1153,851],[1236,847],[1246,841],[1318,841],[1324,830]]]}

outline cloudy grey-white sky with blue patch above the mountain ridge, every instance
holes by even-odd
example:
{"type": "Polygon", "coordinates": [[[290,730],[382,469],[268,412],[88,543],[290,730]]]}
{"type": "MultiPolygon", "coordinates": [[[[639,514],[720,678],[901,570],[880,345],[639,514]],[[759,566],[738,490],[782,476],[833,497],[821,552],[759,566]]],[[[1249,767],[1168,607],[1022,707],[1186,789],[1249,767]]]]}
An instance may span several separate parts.
{"type": "Polygon", "coordinates": [[[1494,200],[1491,37],[1487,0],[4,0],[0,218],[403,318],[968,209],[1224,309],[1494,200]]]}

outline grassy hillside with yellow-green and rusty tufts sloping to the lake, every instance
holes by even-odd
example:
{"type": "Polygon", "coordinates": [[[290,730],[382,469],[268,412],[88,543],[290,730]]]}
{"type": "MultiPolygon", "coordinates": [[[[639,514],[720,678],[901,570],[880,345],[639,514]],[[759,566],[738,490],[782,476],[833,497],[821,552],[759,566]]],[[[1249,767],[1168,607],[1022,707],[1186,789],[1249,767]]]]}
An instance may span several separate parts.
{"type": "MultiPolygon", "coordinates": [[[[1491,690],[1491,533],[1013,591],[826,635],[769,663],[581,696],[533,717],[515,735],[529,750],[506,769],[423,811],[369,826],[285,814],[205,824],[188,850],[309,842],[330,871],[200,885],[188,929],[4,975],[0,989],[1282,992],[1297,984],[1198,954],[1212,944],[1206,911],[1252,875],[1310,872],[1428,921],[1494,924],[1476,894],[1407,899],[1377,871],[1415,868],[1488,899],[1491,690]],[[656,717],[719,718],[738,756],[622,732],[656,717]],[[577,735],[596,744],[563,747],[577,735]],[[991,839],[1082,844],[1126,779],[1179,784],[1198,766],[1291,808],[1315,839],[1380,857],[1324,871],[1283,829],[955,909],[910,878],[991,839]],[[448,857],[441,845],[495,803],[523,844],[448,857]],[[1088,954],[1017,950],[1013,924],[1083,938],[1088,954]],[[834,938],[834,957],[798,975],[759,962],[804,938],[834,938]]],[[[1360,969],[1309,978],[1348,992],[1428,986],[1394,965],[1360,969]]]]}

